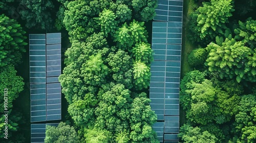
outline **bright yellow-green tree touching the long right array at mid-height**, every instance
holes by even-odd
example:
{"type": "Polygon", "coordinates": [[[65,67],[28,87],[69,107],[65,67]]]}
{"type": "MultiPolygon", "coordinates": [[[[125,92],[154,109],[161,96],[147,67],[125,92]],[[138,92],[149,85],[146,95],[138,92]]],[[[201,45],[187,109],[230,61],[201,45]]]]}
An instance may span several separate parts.
{"type": "Polygon", "coordinates": [[[150,67],[146,66],[144,63],[135,62],[134,63],[134,84],[136,90],[142,90],[150,85],[150,67]]]}

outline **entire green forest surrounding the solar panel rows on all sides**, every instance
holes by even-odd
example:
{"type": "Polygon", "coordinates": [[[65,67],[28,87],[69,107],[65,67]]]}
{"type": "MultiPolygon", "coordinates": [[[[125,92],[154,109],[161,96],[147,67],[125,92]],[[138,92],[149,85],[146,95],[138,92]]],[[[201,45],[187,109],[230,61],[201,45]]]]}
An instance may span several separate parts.
{"type": "MultiPolygon", "coordinates": [[[[30,142],[27,37],[46,32],[62,33],[67,111],[47,127],[45,142],[159,142],[148,98],[156,7],[155,0],[2,0],[0,90],[8,89],[8,108],[1,94],[0,142],[30,142]]],[[[183,37],[194,47],[184,47],[193,50],[180,84],[180,141],[256,142],[256,1],[184,7],[193,9],[184,13],[183,37]]]]}

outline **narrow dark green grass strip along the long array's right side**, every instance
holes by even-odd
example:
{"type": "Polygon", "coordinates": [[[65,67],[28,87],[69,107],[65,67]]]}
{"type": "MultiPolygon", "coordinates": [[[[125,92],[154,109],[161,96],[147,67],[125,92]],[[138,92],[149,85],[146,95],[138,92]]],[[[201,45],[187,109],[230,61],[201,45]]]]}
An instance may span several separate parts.
{"type": "MultiPolygon", "coordinates": [[[[183,34],[182,34],[182,52],[181,52],[181,78],[191,69],[188,64],[188,55],[197,46],[188,39],[189,34],[189,15],[193,13],[195,7],[194,0],[183,2],[183,34]]],[[[180,125],[184,124],[186,112],[180,107],[180,125]]]]}

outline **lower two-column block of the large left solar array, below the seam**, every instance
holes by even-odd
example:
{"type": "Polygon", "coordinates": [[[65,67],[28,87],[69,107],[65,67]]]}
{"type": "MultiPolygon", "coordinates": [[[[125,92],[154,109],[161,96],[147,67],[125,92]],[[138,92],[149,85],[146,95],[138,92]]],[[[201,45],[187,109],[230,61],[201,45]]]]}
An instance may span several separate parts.
{"type": "Polygon", "coordinates": [[[61,120],[60,83],[30,84],[31,122],[61,120]]]}

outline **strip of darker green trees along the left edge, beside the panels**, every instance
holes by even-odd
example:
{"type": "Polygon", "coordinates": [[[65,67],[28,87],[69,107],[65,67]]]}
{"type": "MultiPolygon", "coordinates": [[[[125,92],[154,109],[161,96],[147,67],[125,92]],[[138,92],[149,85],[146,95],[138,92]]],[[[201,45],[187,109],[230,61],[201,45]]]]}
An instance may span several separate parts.
{"type": "Polygon", "coordinates": [[[24,118],[22,113],[13,110],[13,106],[15,106],[13,101],[23,91],[25,84],[23,78],[17,76],[14,66],[21,63],[22,53],[26,52],[26,32],[16,20],[10,19],[4,14],[0,15],[0,31],[0,90],[2,91],[0,95],[0,141],[24,142],[24,134],[18,131],[18,125],[25,123],[24,118]],[[4,111],[9,112],[6,115],[4,111]],[[6,120],[8,120],[8,124],[6,124],[6,120]],[[5,134],[6,128],[8,128],[8,134],[5,134]]]}

